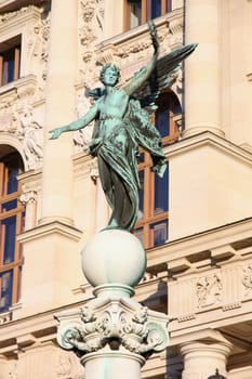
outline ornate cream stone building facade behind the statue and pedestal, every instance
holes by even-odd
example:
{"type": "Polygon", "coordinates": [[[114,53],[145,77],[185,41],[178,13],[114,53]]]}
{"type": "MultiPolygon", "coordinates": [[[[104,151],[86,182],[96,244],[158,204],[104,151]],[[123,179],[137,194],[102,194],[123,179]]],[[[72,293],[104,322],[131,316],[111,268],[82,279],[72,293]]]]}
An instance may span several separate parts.
{"type": "Polygon", "coordinates": [[[54,315],[93,297],[80,251],[110,210],[93,126],[49,132],[85,114],[104,64],[119,84],[146,64],[149,18],[161,55],[198,47],[150,109],[161,181],[140,152],[136,299],[170,316],[169,349],[142,376],[252,377],[252,1],[0,0],[0,379],[84,375],[54,315]]]}

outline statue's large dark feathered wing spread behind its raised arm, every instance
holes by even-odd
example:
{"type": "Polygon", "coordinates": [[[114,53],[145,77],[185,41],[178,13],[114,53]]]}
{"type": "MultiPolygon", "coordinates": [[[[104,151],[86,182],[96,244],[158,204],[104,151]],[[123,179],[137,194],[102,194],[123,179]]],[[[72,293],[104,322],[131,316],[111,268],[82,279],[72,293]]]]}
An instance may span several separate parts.
{"type": "MultiPolygon", "coordinates": [[[[154,104],[160,91],[172,84],[174,81],[173,74],[178,69],[178,64],[191,54],[196,47],[197,43],[187,44],[173,50],[157,61],[156,67],[148,80],[133,94],[134,97],[140,100],[142,107],[154,104]]],[[[137,75],[141,75],[141,69],[135,74],[135,76],[137,75]]]]}

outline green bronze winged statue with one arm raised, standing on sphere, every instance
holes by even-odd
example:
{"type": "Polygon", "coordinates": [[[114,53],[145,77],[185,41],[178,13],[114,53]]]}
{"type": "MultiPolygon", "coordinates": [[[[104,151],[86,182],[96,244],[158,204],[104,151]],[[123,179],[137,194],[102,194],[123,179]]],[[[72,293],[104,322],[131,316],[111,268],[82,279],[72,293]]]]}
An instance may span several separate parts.
{"type": "Polygon", "coordinates": [[[138,146],[150,153],[152,170],[158,175],[162,177],[167,168],[161,136],[145,106],[154,104],[160,89],[171,81],[171,73],[196,48],[188,44],[158,58],[157,31],[152,22],[148,22],[148,27],[154,47],[149,63],[121,88],[116,87],[119,68],[114,64],[103,66],[100,79],[104,88],[90,92],[96,99],[93,106],[79,120],[51,131],[54,140],[96,120],[89,153],[97,157],[102,186],[112,210],[107,228],[129,232],[134,228],[138,214],[138,146]]]}

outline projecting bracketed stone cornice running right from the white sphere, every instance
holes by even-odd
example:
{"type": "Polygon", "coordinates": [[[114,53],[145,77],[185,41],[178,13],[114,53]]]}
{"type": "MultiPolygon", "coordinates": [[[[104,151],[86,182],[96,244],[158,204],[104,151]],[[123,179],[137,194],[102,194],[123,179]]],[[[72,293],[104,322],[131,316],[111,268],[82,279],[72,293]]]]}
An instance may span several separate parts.
{"type": "Polygon", "coordinates": [[[164,262],[168,262],[168,266],[170,266],[170,270],[172,270],[174,274],[180,273],[191,267],[190,256],[194,256],[194,267],[197,261],[202,263],[205,259],[210,260],[212,256],[215,260],[217,260],[217,256],[220,256],[221,259],[225,257],[229,259],[239,250],[239,241],[251,240],[251,231],[252,218],[180,238],[161,247],[149,249],[147,251],[147,270],[152,273],[159,272],[161,269],[164,269],[164,262]],[[235,245],[237,250],[230,248],[230,245],[235,245]],[[226,251],[223,251],[223,247],[226,247],[224,249],[226,251]],[[213,252],[211,252],[212,250],[213,252]]]}

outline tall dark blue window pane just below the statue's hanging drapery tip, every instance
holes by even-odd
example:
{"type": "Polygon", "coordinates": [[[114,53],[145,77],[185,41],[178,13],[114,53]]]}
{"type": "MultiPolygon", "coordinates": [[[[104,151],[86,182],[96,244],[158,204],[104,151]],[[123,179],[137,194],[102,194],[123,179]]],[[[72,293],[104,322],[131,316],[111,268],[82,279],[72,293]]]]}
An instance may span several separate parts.
{"type": "Polygon", "coordinates": [[[159,214],[168,211],[168,169],[164,172],[163,178],[155,174],[155,199],[154,199],[154,213],[159,214]]]}

